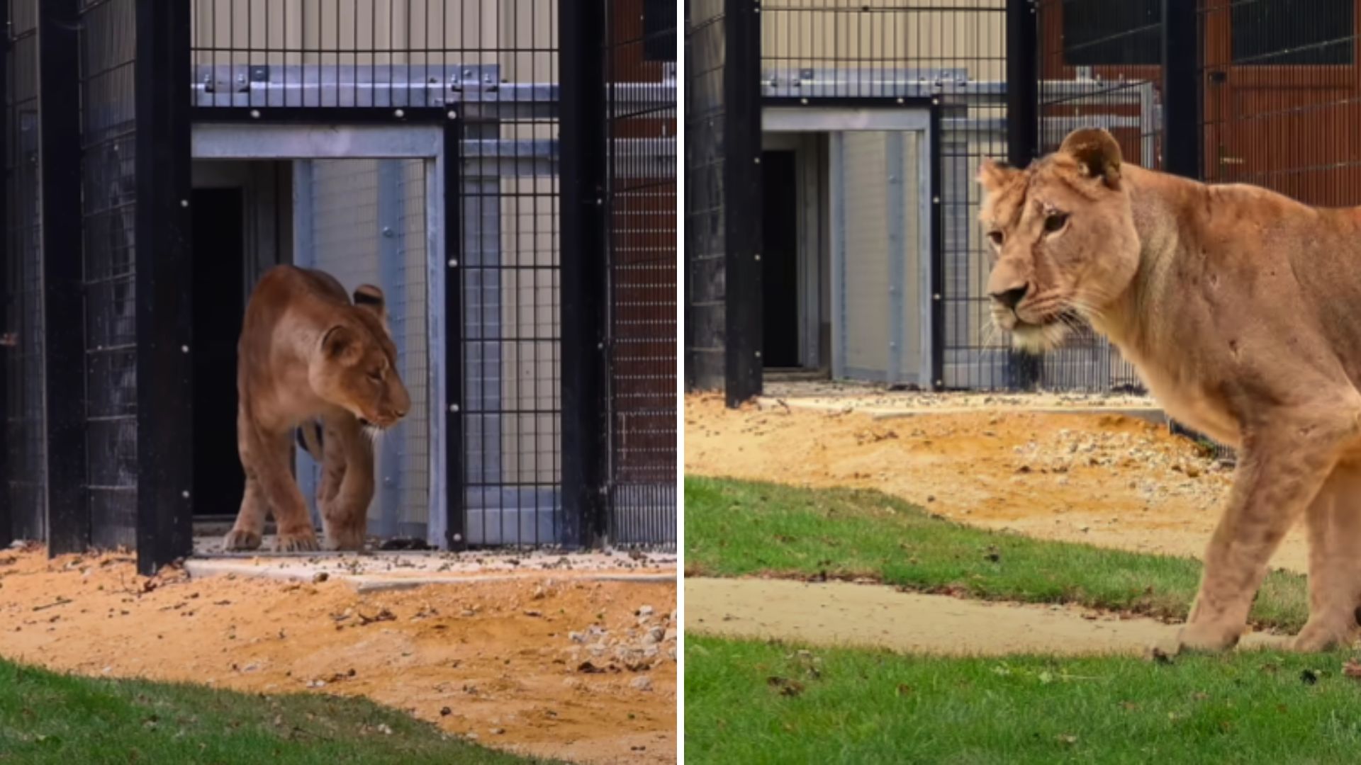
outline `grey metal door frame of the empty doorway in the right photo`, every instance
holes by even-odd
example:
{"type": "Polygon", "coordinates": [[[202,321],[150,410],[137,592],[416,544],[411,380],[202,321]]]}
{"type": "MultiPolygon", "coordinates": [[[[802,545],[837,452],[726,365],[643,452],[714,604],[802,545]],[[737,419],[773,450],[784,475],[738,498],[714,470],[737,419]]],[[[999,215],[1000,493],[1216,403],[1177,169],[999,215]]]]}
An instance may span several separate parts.
{"type": "MultiPolygon", "coordinates": [[[[837,193],[841,188],[842,167],[840,163],[841,140],[840,135],[847,132],[920,132],[923,135],[921,162],[917,167],[917,181],[921,184],[919,195],[919,214],[921,226],[917,231],[917,244],[923,257],[919,261],[917,297],[923,308],[920,325],[921,351],[916,370],[917,385],[923,389],[940,387],[940,370],[943,362],[943,329],[942,316],[942,280],[945,274],[940,268],[940,147],[939,147],[939,116],[934,99],[921,98],[780,98],[765,101],[761,113],[761,129],[768,133],[803,132],[827,133],[827,189],[829,189],[829,241],[832,245],[832,374],[844,377],[845,362],[845,248],[838,241],[837,233],[845,231],[842,200],[837,193]]],[[[902,253],[900,253],[902,255],[902,253]]],[[[905,268],[904,263],[898,263],[905,268]]],[[[890,270],[893,263],[890,261],[890,270]]],[[[897,297],[898,306],[891,310],[893,316],[902,316],[901,293],[897,297]]],[[[890,336],[900,338],[905,328],[894,323],[890,336]]],[[[890,362],[889,373],[894,363],[890,362]]]]}

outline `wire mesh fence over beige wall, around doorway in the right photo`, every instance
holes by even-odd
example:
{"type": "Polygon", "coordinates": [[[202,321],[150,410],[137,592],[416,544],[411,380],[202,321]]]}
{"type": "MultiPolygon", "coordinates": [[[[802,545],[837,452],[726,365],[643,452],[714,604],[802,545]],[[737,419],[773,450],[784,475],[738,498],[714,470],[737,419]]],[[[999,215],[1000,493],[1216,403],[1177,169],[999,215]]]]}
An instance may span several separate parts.
{"type": "MultiPolygon", "coordinates": [[[[989,328],[988,261],[974,184],[984,157],[1006,155],[1006,3],[1003,0],[780,0],[761,12],[761,86],[766,98],[834,105],[930,108],[938,114],[938,268],[946,388],[1006,388],[1011,354],[989,328]],[[901,101],[900,101],[901,99],[901,101]]],[[[864,172],[875,172],[868,167],[864,172]]],[[[882,170],[879,170],[882,172],[882,170]]],[[[848,185],[871,182],[860,173],[848,185]]],[[[930,257],[921,253],[919,257],[930,257]]],[[[848,267],[849,268],[849,267],[848,267]]],[[[912,323],[928,321],[913,306],[912,323]]],[[[837,317],[832,317],[837,321],[837,317]]],[[[923,381],[925,385],[935,380],[923,381]]]]}

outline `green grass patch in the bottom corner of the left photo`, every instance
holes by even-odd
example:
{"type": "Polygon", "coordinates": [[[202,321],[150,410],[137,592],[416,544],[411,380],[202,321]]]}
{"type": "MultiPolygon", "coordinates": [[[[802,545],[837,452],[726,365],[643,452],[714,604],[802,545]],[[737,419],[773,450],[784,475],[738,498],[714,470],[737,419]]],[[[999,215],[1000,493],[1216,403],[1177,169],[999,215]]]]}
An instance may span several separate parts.
{"type": "Polygon", "coordinates": [[[359,698],[90,679],[0,660],[0,764],[525,764],[359,698]],[[392,732],[385,732],[391,730],[392,732]]]}

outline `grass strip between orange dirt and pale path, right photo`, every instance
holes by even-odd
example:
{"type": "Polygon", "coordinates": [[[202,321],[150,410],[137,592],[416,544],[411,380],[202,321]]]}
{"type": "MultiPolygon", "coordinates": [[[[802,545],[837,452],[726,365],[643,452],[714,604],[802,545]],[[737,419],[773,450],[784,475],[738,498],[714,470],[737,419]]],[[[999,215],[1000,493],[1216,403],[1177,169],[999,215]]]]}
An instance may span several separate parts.
{"type": "MultiPolygon", "coordinates": [[[[966,478],[961,478],[966,481],[966,478]]],[[[871,577],[988,600],[1082,603],[1185,618],[1200,562],[951,523],[878,491],[686,478],[686,573],[871,577]]],[[[1302,576],[1273,572],[1252,621],[1304,626],[1302,576]]]]}

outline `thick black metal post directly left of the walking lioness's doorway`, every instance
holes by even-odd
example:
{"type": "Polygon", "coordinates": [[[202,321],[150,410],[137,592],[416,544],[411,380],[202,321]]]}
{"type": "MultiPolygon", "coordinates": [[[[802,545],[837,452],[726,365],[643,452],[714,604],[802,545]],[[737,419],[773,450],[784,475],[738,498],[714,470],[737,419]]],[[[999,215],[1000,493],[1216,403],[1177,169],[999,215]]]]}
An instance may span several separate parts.
{"type": "Polygon", "coordinates": [[[193,546],[192,152],[184,90],[189,31],[188,3],[137,0],[137,570],[143,574],[188,555],[193,546]]]}

